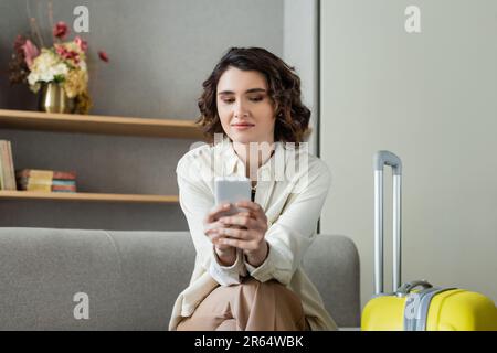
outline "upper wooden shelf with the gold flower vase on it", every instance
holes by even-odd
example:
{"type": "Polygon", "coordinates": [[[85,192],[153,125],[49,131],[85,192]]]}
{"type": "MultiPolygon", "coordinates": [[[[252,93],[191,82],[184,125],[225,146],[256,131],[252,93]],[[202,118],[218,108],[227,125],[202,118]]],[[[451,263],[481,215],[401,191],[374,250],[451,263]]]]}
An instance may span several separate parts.
{"type": "Polygon", "coordinates": [[[0,109],[0,128],[203,140],[192,120],[0,109]]]}

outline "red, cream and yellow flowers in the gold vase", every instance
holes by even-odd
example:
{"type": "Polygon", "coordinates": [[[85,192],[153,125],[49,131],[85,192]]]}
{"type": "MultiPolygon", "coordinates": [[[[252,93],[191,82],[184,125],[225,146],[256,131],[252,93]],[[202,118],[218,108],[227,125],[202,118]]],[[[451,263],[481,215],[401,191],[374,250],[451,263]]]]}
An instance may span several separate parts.
{"type": "MultiPolygon", "coordinates": [[[[92,99],[88,94],[87,42],[81,36],[64,41],[70,30],[67,24],[61,21],[53,25],[52,46],[43,47],[33,18],[31,23],[35,35],[28,38],[20,34],[15,39],[9,65],[10,83],[28,84],[33,93],[38,93],[44,84],[56,83],[68,98],[74,98],[76,113],[88,114],[92,99]],[[38,38],[38,45],[33,43],[34,38],[38,38]]],[[[98,56],[104,62],[109,61],[103,51],[98,52],[98,56]]]]}

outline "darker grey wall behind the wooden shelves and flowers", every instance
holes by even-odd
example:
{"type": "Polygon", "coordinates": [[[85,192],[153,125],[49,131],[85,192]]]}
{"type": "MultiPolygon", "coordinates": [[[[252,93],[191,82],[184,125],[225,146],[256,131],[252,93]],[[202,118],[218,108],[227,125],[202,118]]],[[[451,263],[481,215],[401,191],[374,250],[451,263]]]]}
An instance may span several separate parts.
{"type": "MultiPolygon", "coordinates": [[[[47,29],[47,1],[28,2],[47,29]]],[[[283,0],[53,2],[55,21],[72,23],[76,4],[89,9],[92,114],[193,119],[201,83],[230,46],[283,55],[283,0]],[[96,58],[101,49],[108,65],[96,58]]],[[[0,108],[34,109],[35,96],[10,87],[6,73],[15,35],[29,29],[25,2],[0,0],[0,108]]],[[[175,168],[194,142],[17,130],[0,130],[0,139],[11,140],[15,169],[74,169],[82,192],[154,194],[178,192],[175,168]]],[[[0,226],[187,228],[178,205],[52,201],[0,201],[0,226]]]]}

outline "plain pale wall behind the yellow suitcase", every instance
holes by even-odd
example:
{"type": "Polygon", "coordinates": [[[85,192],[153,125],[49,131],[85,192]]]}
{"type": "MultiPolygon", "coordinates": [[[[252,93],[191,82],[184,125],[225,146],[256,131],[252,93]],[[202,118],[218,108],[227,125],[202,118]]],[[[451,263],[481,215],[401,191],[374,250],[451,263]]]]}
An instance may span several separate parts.
{"type": "MultiPolygon", "coordinates": [[[[321,225],[358,245],[362,303],[372,295],[380,149],[404,163],[403,278],[497,300],[497,2],[321,4],[321,157],[334,174],[321,225]],[[404,31],[410,4],[421,9],[419,34],[404,31]]],[[[385,191],[390,244],[391,176],[385,191]]],[[[391,246],[385,254],[390,268],[391,246]]]]}

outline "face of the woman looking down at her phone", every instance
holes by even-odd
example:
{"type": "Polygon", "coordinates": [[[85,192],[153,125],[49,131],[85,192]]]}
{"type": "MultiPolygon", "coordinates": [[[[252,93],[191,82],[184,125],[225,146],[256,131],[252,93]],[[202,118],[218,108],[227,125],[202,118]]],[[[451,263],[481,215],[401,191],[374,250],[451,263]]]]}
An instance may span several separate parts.
{"type": "Polygon", "coordinates": [[[275,107],[257,71],[229,67],[218,83],[218,114],[234,142],[274,142],[275,107]]]}

